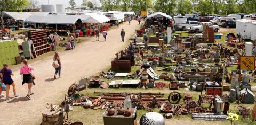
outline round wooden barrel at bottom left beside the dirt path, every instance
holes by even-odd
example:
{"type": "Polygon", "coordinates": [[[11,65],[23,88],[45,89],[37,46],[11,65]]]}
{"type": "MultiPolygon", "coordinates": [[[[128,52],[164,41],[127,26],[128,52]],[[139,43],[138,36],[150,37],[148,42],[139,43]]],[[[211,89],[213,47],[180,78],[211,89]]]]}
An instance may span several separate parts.
{"type": "MultiPolygon", "coordinates": [[[[53,108],[56,105],[53,105],[53,108]]],[[[43,109],[43,121],[42,125],[59,125],[64,122],[64,115],[61,112],[61,107],[58,105],[54,108],[54,111],[51,111],[51,106],[43,109]]]]}

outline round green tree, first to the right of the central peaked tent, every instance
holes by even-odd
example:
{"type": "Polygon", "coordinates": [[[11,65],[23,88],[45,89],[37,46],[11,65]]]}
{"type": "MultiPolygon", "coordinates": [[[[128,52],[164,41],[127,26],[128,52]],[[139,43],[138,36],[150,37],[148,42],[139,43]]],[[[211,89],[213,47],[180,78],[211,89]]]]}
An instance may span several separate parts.
{"type": "Polygon", "coordinates": [[[182,15],[188,14],[192,10],[191,2],[189,0],[178,0],[176,9],[177,13],[182,15]]]}

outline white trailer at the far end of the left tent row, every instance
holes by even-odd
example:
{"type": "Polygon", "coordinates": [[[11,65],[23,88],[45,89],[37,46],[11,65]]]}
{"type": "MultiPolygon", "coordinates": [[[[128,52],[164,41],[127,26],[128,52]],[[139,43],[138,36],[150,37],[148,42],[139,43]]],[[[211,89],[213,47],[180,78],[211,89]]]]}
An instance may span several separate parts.
{"type": "Polygon", "coordinates": [[[106,12],[103,15],[107,16],[110,21],[118,20],[119,22],[124,21],[124,12],[106,12]]]}

